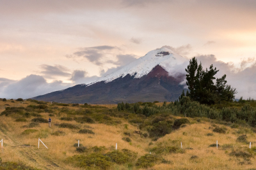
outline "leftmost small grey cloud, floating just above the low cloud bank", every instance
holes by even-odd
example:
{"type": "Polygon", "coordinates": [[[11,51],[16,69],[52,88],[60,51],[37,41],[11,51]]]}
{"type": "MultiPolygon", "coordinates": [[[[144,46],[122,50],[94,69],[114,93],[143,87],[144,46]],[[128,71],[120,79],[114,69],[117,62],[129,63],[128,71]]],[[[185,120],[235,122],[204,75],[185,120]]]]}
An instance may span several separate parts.
{"type": "Polygon", "coordinates": [[[71,75],[70,73],[68,73],[69,69],[61,65],[50,66],[47,64],[42,64],[40,68],[42,69],[40,73],[44,74],[45,78],[53,78],[54,76],[70,76],[71,75]]]}

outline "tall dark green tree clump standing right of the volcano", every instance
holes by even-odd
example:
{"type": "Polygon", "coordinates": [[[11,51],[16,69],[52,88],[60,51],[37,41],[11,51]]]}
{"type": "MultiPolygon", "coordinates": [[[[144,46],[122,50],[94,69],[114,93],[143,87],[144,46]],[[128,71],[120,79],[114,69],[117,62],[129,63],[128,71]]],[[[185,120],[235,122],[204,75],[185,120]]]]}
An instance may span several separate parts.
{"type": "MultiPolygon", "coordinates": [[[[209,69],[206,68],[204,70],[202,63],[200,62],[198,65],[196,58],[193,57],[186,68],[186,84],[189,89],[186,96],[201,104],[218,104],[223,101],[233,101],[237,91],[230,85],[226,85],[226,74],[221,78],[215,78],[215,74],[218,71],[212,64],[209,69]]],[[[182,92],[182,96],[184,96],[184,92],[182,92]]]]}

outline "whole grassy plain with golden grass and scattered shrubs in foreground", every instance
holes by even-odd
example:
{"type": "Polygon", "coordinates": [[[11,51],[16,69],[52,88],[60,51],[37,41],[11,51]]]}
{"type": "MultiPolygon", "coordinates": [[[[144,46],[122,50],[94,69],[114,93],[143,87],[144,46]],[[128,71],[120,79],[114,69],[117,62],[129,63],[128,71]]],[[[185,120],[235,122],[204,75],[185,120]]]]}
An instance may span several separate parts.
{"type": "Polygon", "coordinates": [[[4,105],[9,108],[0,110],[0,140],[4,141],[0,169],[6,162],[23,162],[38,169],[256,167],[255,129],[248,125],[186,117],[189,122],[173,127],[175,120],[184,117],[166,113],[145,117],[118,111],[115,104],[77,106],[0,101],[0,108],[4,105]],[[49,117],[52,118],[51,128],[41,123],[49,117]],[[38,149],[38,138],[48,150],[42,144],[38,149]],[[76,147],[78,139],[79,149],[76,147]],[[251,149],[249,142],[252,142],[251,149]]]}

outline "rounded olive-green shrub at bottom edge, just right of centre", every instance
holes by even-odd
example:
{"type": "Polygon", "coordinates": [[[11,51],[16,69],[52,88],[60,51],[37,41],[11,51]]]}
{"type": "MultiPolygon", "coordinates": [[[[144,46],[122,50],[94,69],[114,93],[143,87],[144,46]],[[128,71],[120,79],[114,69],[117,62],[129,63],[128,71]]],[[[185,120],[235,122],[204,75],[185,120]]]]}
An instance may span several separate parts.
{"type": "Polygon", "coordinates": [[[137,160],[135,165],[138,168],[148,168],[154,166],[159,160],[156,155],[145,154],[137,160]]]}

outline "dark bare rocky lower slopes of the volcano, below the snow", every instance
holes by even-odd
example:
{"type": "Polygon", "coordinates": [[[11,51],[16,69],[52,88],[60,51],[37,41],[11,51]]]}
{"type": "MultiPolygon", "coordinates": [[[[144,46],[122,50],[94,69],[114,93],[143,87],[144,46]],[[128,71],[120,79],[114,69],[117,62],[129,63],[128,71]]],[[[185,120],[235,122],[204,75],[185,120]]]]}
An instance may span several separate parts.
{"type": "Polygon", "coordinates": [[[169,76],[163,67],[157,65],[141,78],[127,74],[109,83],[100,81],[90,86],[75,85],[65,90],[51,92],[33,97],[39,101],[55,101],[61,103],[116,104],[175,101],[180,96],[185,74],[177,77],[169,76]]]}

